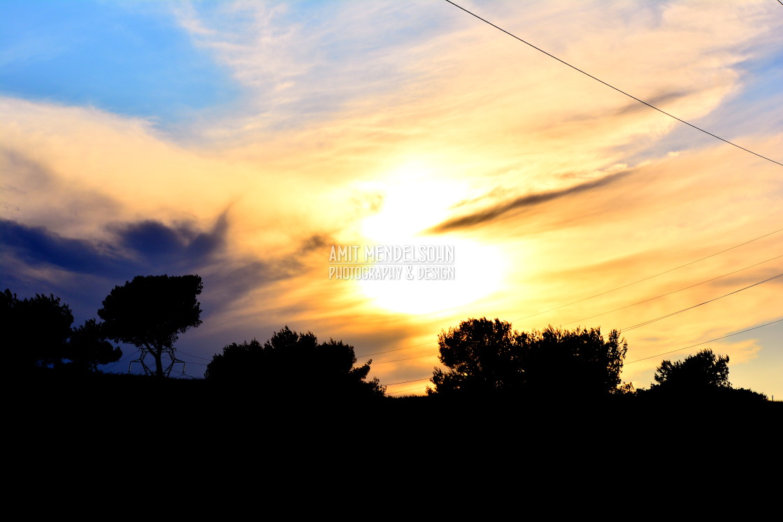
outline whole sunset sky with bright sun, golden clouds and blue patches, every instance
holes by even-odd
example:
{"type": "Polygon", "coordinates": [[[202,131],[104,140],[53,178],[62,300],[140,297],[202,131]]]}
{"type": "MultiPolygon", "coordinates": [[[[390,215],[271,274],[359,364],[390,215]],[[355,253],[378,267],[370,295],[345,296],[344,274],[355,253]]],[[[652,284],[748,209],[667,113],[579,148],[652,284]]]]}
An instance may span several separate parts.
{"type": "MultiPolygon", "coordinates": [[[[460,5],[783,163],[779,2],[460,5]]],[[[753,153],[445,1],[0,0],[0,288],[81,324],[198,274],[189,376],[289,326],[421,394],[438,333],[487,317],[622,329],[636,387],[709,347],[783,398],[783,166],[753,153]],[[333,246],[453,272],[330,278],[333,246]]]]}

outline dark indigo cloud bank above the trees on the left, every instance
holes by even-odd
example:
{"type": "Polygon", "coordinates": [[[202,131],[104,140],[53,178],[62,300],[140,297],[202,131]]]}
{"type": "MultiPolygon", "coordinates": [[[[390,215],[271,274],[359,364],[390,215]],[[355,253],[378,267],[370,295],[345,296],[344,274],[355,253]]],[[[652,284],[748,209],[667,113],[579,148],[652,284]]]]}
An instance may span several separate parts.
{"type": "MultiPolygon", "coordinates": [[[[211,286],[204,297],[215,309],[258,286],[298,273],[295,260],[230,257],[225,248],[228,228],[225,213],[207,231],[189,221],[114,223],[106,227],[110,239],[97,241],[0,219],[0,283],[12,283],[15,289],[24,281],[31,286],[36,278],[31,268],[58,268],[64,273],[57,284],[68,288],[69,279],[80,280],[82,287],[94,286],[98,293],[94,301],[99,303],[106,295],[106,280],[121,284],[136,275],[200,273],[205,287],[211,286]]],[[[311,238],[309,243],[317,242],[311,238]]],[[[73,293],[72,287],[68,293],[73,293]]]]}

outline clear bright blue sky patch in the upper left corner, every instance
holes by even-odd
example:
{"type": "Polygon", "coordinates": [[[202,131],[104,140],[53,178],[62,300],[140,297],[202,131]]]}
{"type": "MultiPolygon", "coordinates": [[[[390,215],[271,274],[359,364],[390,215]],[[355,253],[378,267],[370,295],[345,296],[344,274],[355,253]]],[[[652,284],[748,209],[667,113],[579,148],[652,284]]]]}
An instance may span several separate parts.
{"type": "Polygon", "coordinates": [[[233,101],[230,71],[158,6],[0,2],[0,94],[163,121],[233,101]]]}

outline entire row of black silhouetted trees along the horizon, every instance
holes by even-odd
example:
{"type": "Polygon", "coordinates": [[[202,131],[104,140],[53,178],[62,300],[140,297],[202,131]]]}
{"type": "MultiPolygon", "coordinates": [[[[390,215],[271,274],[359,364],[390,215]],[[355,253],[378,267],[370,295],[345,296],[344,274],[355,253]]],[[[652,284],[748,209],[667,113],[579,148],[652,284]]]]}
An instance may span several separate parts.
{"type": "MultiPolygon", "coordinates": [[[[60,298],[37,294],[19,299],[2,293],[0,316],[16,368],[25,373],[75,376],[99,373],[122,352],[114,342],[139,347],[144,368],[161,380],[171,371],[175,341],[199,326],[201,292],[198,275],[138,276],[116,286],[97,315],[74,327],[60,298]],[[165,362],[167,356],[170,362],[165,362]]],[[[622,397],[708,398],[720,401],[767,401],[763,394],[734,389],[728,380],[727,356],[709,349],[681,362],[663,361],[648,390],[622,383],[620,373],[628,344],[616,330],[600,328],[517,332],[500,319],[467,319],[438,336],[439,360],[431,400],[573,401],[622,397]]],[[[388,397],[376,379],[368,380],[372,361],[356,365],[355,349],[342,340],[319,342],[316,335],[285,326],[263,344],[256,339],[228,344],[216,353],[204,373],[204,386],[239,389],[265,398],[388,397]]],[[[74,377],[75,378],[75,377],[74,377]]],[[[127,382],[127,381],[126,381],[127,382]]],[[[407,399],[412,400],[412,399],[407,399]]],[[[418,398],[417,400],[427,400],[418,398]]]]}

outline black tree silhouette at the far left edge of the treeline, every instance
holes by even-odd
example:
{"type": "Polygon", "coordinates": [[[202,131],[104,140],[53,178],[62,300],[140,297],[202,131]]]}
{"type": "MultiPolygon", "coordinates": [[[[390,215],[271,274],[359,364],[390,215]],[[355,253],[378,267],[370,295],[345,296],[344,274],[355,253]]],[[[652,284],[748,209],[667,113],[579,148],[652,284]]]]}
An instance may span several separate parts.
{"type": "Polygon", "coordinates": [[[3,344],[11,349],[9,359],[16,369],[49,368],[63,362],[74,315],[67,304],[60,304],[60,297],[36,293],[20,300],[5,289],[0,293],[0,318],[3,344]]]}

